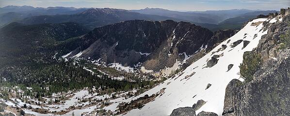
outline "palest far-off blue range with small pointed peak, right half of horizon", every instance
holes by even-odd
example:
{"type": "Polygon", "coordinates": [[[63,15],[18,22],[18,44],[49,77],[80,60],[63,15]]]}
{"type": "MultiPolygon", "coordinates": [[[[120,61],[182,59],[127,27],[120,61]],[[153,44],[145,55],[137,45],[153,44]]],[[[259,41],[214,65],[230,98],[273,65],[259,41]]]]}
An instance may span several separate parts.
{"type": "Polygon", "coordinates": [[[228,18],[233,18],[242,15],[259,15],[269,14],[277,11],[261,11],[261,10],[247,10],[247,9],[233,9],[220,11],[193,11],[193,12],[177,12],[161,8],[145,8],[141,10],[131,10],[141,14],[155,14],[161,16],[175,17],[194,23],[208,23],[218,24],[228,18]]]}

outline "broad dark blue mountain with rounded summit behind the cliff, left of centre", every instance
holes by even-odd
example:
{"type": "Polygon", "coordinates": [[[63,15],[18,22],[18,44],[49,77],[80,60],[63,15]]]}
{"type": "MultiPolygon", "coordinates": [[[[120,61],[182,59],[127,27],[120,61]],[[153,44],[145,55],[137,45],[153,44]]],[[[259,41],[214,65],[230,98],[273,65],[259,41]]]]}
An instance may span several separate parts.
{"type": "Polygon", "coordinates": [[[95,8],[87,9],[84,12],[77,14],[65,14],[65,15],[39,15],[31,16],[21,20],[21,23],[24,24],[42,24],[42,23],[64,23],[64,22],[76,22],[89,29],[94,29],[97,27],[118,23],[121,21],[127,20],[175,20],[183,21],[181,19],[166,17],[160,15],[151,15],[151,14],[140,14],[136,12],[130,12],[123,9],[111,9],[111,8],[95,8]]]}

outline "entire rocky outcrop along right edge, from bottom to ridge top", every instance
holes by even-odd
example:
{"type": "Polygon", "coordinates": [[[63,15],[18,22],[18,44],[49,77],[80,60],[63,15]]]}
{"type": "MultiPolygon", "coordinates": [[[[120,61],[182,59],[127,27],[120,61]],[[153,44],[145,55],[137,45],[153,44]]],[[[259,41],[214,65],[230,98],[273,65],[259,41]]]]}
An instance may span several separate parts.
{"type": "Polygon", "coordinates": [[[280,35],[289,29],[290,16],[280,14],[275,18],[277,21],[271,20],[275,23],[263,22],[263,31],[268,29],[268,34],[262,36],[258,47],[252,51],[260,54],[264,63],[252,81],[232,80],[227,85],[223,116],[290,114],[290,49],[279,50],[280,35]]]}

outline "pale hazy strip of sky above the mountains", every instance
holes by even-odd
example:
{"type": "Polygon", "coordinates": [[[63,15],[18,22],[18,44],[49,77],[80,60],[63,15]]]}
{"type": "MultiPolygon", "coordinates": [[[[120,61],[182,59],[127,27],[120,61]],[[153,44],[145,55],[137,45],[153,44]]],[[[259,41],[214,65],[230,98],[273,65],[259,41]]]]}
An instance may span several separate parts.
{"type": "Polygon", "coordinates": [[[30,5],[34,7],[95,7],[119,9],[163,8],[179,11],[226,9],[279,10],[290,7],[290,0],[0,0],[0,7],[30,5]]]}

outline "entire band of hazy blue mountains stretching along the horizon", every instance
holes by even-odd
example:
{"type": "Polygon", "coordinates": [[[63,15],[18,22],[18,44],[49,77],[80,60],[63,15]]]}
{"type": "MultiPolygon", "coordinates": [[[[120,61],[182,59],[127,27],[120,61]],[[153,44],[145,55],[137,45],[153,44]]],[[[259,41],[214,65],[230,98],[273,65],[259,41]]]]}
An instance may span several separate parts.
{"type": "Polygon", "coordinates": [[[274,12],[277,11],[234,9],[177,12],[161,8],[129,11],[111,8],[6,6],[0,8],[0,27],[11,22],[24,24],[76,22],[88,29],[94,29],[121,21],[140,19],[185,21],[216,31],[219,29],[240,29],[242,24],[249,19],[259,14],[274,12]]]}

